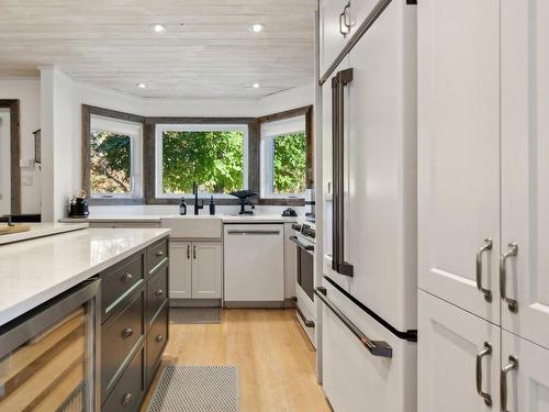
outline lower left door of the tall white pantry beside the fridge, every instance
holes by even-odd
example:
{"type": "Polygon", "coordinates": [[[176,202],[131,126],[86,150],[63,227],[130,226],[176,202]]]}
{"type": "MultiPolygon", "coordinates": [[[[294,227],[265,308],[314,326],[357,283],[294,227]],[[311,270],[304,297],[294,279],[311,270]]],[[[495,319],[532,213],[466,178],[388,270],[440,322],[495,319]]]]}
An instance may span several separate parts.
{"type": "Polygon", "coordinates": [[[418,298],[417,410],[496,410],[501,329],[424,291],[418,298]],[[491,352],[481,357],[479,371],[481,390],[491,397],[492,407],[477,391],[477,357],[485,344],[491,352]]]}

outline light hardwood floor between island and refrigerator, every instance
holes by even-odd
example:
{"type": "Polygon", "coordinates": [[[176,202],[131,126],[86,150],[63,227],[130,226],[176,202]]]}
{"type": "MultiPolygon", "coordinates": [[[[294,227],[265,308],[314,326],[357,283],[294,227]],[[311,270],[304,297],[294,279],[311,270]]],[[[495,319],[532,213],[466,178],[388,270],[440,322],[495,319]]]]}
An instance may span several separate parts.
{"type": "Polygon", "coordinates": [[[170,324],[165,361],[238,366],[243,412],[329,411],[316,383],[315,350],[293,310],[231,309],[221,319],[220,324],[170,324]]]}

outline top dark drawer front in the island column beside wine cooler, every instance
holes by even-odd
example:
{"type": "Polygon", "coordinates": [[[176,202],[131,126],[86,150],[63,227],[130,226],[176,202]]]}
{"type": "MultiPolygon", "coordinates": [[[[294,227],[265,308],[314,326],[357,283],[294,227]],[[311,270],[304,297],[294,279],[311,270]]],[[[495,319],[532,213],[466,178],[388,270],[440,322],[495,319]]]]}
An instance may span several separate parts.
{"type": "Polygon", "coordinates": [[[144,256],[132,256],[121,266],[101,274],[103,322],[122,305],[124,298],[143,282],[144,256]]]}

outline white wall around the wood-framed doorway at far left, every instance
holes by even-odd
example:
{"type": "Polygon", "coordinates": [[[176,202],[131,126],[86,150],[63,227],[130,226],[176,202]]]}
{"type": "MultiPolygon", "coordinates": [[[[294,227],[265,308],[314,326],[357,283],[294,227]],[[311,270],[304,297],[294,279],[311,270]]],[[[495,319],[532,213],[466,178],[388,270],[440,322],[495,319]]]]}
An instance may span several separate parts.
{"type": "MultiPolygon", "coordinates": [[[[40,129],[40,79],[0,78],[0,99],[20,100],[21,158],[34,158],[33,132],[40,129]]],[[[21,187],[22,213],[40,213],[41,176],[37,168],[22,168],[24,180],[32,181],[21,187]]]]}

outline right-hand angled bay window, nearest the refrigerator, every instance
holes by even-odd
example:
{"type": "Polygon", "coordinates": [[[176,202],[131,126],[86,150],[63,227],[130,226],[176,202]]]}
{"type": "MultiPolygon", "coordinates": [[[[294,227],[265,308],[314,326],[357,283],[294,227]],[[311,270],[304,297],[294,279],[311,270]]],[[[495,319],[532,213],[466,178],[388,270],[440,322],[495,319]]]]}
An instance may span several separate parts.
{"type": "Polygon", "coordinates": [[[305,115],[261,124],[261,197],[304,196],[307,170],[305,115]]]}

